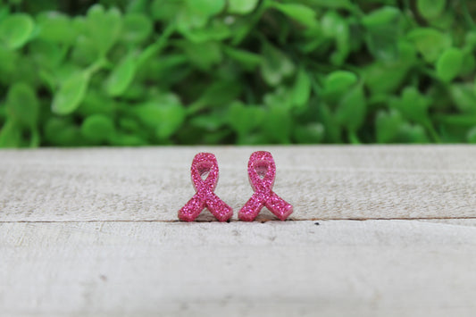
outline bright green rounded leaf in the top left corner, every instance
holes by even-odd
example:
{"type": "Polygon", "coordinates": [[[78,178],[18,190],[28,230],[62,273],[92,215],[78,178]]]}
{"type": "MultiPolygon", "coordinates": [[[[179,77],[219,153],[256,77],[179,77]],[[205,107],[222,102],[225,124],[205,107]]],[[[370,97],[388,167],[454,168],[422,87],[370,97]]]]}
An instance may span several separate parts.
{"type": "Polygon", "coordinates": [[[0,22],[0,42],[10,49],[24,46],[35,27],[33,19],[28,14],[15,13],[0,22]]]}

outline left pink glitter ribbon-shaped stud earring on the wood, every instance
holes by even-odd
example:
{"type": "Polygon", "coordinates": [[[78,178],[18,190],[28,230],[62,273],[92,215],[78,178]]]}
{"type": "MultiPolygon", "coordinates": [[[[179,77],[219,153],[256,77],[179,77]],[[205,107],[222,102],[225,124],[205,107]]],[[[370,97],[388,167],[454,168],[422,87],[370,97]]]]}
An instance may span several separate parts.
{"type": "Polygon", "coordinates": [[[190,170],[196,194],[180,209],[179,219],[194,221],[206,207],[219,221],[228,221],[233,210],[213,193],[218,182],[218,162],[215,155],[196,154],[190,170]],[[207,173],[206,179],[202,179],[207,173]]]}

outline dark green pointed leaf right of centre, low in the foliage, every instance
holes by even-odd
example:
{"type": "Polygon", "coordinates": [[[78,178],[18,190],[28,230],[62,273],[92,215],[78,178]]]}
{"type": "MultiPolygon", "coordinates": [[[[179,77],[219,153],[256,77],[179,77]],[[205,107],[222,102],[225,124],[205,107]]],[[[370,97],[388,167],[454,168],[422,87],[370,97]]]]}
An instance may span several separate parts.
{"type": "Polygon", "coordinates": [[[359,129],[366,114],[366,101],[362,86],[352,88],[338,104],[336,118],[349,131],[359,129]]]}

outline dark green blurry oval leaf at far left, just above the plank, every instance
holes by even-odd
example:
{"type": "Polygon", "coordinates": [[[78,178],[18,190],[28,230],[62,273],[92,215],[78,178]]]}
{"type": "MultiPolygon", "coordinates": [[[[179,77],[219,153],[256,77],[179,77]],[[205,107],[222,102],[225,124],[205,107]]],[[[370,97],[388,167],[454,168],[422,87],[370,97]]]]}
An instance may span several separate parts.
{"type": "Polygon", "coordinates": [[[15,83],[6,96],[7,113],[16,122],[30,129],[38,124],[39,104],[35,90],[24,83],[15,83]]]}

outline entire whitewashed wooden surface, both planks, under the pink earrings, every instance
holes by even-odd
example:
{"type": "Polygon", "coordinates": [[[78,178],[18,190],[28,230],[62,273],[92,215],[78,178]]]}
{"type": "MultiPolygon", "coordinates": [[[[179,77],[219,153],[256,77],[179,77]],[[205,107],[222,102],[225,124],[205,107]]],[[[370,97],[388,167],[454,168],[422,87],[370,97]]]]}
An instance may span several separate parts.
{"type": "Polygon", "coordinates": [[[0,315],[476,315],[476,147],[263,146],[294,221],[177,221],[196,152],[238,209],[256,149],[1,151],[0,315]]]}

